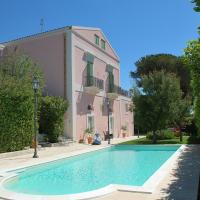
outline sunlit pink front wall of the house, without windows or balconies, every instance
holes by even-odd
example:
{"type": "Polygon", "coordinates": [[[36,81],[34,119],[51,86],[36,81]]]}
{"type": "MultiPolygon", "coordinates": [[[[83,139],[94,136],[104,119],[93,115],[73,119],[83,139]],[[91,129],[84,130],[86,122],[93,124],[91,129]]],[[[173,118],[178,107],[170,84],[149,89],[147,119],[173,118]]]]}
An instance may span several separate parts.
{"type": "MultiPolygon", "coordinates": [[[[77,31],[77,30],[75,30],[77,31]]],[[[87,115],[94,116],[95,131],[99,132],[102,136],[103,132],[107,131],[107,108],[105,103],[106,90],[108,86],[108,73],[107,65],[112,65],[114,81],[119,85],[120,69],[119,61],[113,50],[106,47],[106,53],[99,50],[94,44],[94,34],[100,33],[99,31],[78,30],[78,35],[74,33],[74,66],[75,69],[75,101],[76,101],[76,140],[83,138],[84,130],[87,128],[87,115]],[[79,37],[80,35],[81,38],[79,37]],[[93,44],[90,44],[90,42],[93,44]],[[108,51],[108,52],[107,52],[108,51]],[[85,54],[89,52],[94,56],[93,74],[94,77],[104,81],[104,90],[96,95],[90,95],[84,92],[84,79],[86,77],[85,54]],[[94,110],[89,111],[88,105],[93,105],[94,110]]],[[[101,38],[100,34],[98,34],[101,38]]],[[[102,36],[103,37],[103,36],[102,36]]],[[[106,42],[108,45],[108,43],[106,42]]],[[[133,114],[125,112],[125,104],[131,103],[131,100],[125,98],[121,100],[119,97],[113,100],[112,103],[112,116],[114,117],[114,137],[121,137],[121,126],[127,125],[128,135],[133,135],[133,114]],[[122,109],[122,110],[121,110],[122,109]]]]}

